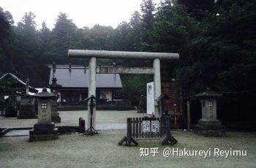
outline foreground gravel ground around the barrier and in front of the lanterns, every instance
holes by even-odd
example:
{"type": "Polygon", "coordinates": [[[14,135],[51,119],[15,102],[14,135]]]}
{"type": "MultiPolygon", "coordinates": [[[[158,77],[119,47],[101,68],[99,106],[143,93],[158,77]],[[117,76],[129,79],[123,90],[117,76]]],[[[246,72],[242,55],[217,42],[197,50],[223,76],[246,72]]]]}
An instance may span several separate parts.
{"type": "Polygon", "coordinates": [[[59,140],[28,142],[29,137],[0,139],[0,167],[255,167],[256,133],[227,132],[227,137],[202,137],[173,131],[178,144],[169,148],[190,150],[246,150],[247,156],[170,156],[159,140],[139,141],[138,147],[118,146],[124,130],[99,131],[98,135],[65,134],[59,140]],[[159,148],[157,156],[140,157],[140,148],[159,148]]]}

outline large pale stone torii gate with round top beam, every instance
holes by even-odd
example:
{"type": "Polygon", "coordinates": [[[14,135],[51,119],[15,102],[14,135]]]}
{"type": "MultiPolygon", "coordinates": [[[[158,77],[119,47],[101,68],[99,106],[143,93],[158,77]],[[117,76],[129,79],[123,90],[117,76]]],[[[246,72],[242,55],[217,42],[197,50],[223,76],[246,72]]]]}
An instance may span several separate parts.
{"type": "MultiPolygon", "coordinates": [[[[69,50],[69,58],[89,58],[89,92],[88,95],[96,97],[96,73],[118,74],[154,74],[154,111],[156,117],[161,117],[157,108],[157,97],[161,95],[160,60],[178,59],[178,53],[149,53],[105,50],[69,50]],[[97,66],[96,58],[117,59],[144,59],[154,60],[153,68],[123,67],[123,66],[97,66]]],[[[88,108],[89,109],[89,108],[88,108]]],[[[95,111],[95,108],[94,108],[95,111]]],[[[94,112],[95,114],[95,112],[94,112]]],[[[94,115],[95,118],[95,115],[94,115]]],[[[94,122],[94,121],[93,121],[94,122]]]]}

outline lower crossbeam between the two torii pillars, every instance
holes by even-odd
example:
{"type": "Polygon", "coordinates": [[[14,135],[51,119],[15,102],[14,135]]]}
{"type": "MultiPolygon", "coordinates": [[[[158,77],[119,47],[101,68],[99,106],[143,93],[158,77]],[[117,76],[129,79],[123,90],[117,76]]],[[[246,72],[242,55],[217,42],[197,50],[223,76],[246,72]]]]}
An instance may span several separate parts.
{"type": "Polygon", "coordinates": [[[123,67],[123,66],[97,66],[97,74],[154,74],[153,68],[123,67]]]}

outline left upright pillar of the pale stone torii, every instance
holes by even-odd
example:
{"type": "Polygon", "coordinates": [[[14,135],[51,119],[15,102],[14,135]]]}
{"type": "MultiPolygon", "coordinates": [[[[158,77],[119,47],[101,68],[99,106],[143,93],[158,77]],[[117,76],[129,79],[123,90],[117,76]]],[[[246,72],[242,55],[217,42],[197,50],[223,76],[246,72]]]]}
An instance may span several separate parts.
{"type": "MultiPolygon", "coordinates": [[[[88,96],[95,96],[96,97],[96,58],[91,57],[89,60],[89,90],[88,90],[88,96]]],[[[96,102],[94,102],[96,103],[96,102]]],[[[95,126],[95,107],[94,107],[94,115],[92,119],[92,125],[95,126]]],[[[88,105],[88,128],[91,124],[91,114],[90,114],[90,107],[88,105]]],[[[95,128],[95,127],[94,127],[95,128]]]]}

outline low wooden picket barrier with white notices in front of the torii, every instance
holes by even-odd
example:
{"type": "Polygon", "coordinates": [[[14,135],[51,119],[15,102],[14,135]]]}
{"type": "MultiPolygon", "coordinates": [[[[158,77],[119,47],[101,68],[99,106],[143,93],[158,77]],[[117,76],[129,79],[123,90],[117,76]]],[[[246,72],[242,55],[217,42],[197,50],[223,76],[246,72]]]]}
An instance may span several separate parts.
{"type": "Polygon", "coordinates": [[[177,140],[170,134],[170,118],[127,118],[127,136],[118,145],[138,145],[136,140],[164,139],[162,145],[174,145],[177,140]]]}

